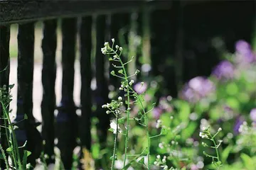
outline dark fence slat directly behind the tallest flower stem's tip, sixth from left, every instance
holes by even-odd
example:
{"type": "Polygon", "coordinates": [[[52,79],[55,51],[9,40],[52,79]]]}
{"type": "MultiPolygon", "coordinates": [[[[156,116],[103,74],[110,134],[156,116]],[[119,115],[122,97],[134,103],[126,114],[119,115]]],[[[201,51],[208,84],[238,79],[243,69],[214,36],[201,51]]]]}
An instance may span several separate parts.
{"type": "Polygon", "coordinates": [[[105,144],[107,138],[107,129],[110,125],[110,116],[102,109],[102,105],[108,101],[108,88],[107,80],[105,77],[105,61],[107,58],[102,55],[100,48],[103,47],[105,42],[105,28],[106,16],[101,15],[96,18],[96,56],[95,56],[95,69],[96,69],[96,103],[97,103],[97,118],[99,118],[98,136],[102,146],[105,144]]]}

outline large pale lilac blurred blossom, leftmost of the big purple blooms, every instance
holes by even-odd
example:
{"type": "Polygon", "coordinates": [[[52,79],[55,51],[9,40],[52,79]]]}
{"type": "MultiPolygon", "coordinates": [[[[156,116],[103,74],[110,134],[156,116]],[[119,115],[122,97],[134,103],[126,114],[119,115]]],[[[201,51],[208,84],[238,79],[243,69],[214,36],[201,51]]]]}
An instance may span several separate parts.
{"type": "Polygon", "coordinates": [[[215,91],[215,85],[206,77],[195,77],[188,81],[181,91],[186,101],[197,102],[215,91]]]}

